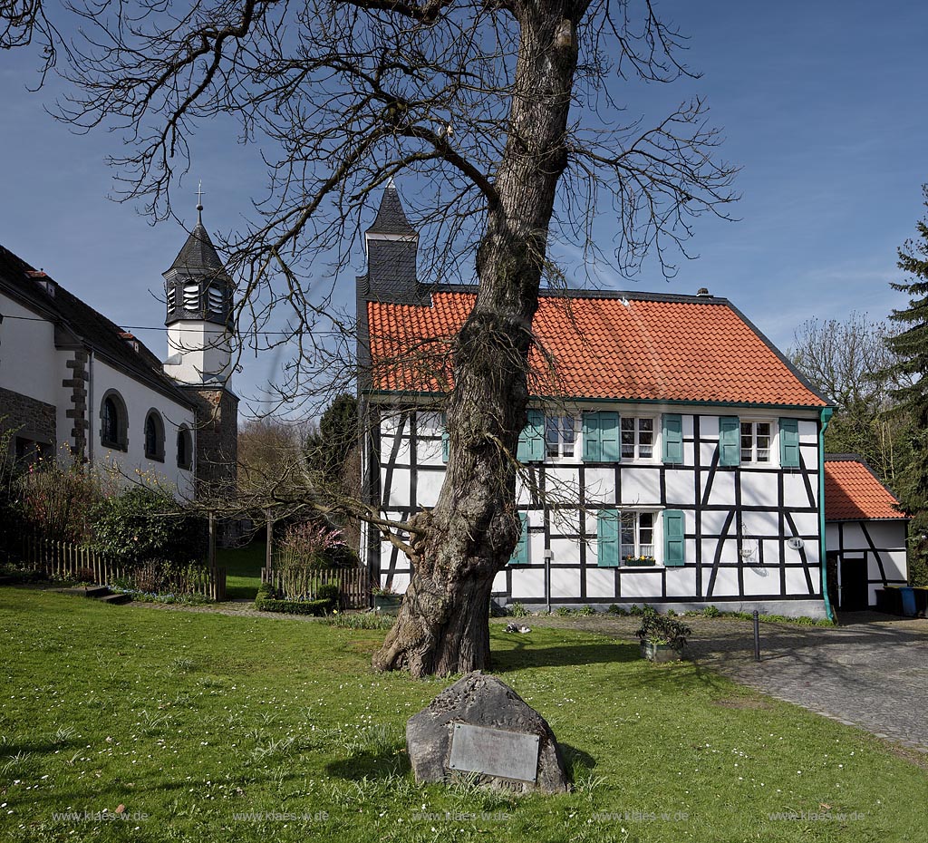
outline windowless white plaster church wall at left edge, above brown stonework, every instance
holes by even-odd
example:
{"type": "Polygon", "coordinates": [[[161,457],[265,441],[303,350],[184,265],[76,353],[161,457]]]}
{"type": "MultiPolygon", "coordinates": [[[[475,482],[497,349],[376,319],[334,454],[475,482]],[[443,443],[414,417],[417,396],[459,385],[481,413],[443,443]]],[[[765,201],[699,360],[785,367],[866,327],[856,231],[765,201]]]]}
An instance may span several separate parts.
{"type": "MultiPolygon", "coordinates": [[[[61,381],[70,378],[71,373],[67,369],[58,370],[55,326],[45,319],[32,321],[40,318],[37,313],[2,292],[0,313],[4,315],[0,324],[0,386],[57,405],[64,394],[61,381]]],[[[58,421],[58,438],[61,436],[58,421]]]]}

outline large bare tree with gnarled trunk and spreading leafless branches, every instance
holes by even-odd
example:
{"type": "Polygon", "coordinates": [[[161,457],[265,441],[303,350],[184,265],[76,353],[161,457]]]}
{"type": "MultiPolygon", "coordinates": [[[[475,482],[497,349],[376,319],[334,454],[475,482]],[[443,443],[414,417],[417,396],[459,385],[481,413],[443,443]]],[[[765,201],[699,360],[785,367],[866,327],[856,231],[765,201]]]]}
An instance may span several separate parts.
{"type": "Polygon", "coordinates": [[[70,6],[86,34],[69,45],[74,94],[60,116],[122,129],[127,198],[171,213],[200,121],[230,113],[245,140],[261,141],[268,193],[226,251],[243,279],[243,342],[259,343],[287,308],[279,342],[298,354],[285,393],[343,378],[351,321],[334,313],[332,282],[312,261],[325,255],[330,277],[347,266],[372,191],[393,175],[416,181],[432,278],[476,275],[448,349],[438,502],[408,524],[369,517],[415,568],[375,667],[487,667],[491,583],[519,534],[513,455],[532,323],[543,280],[560,276],[549,244],[577,244],[626,273],[651,254],[671,275],[670,250],[684,250],[692,220],[725,215],[734,198],[701,99],[653,123],[626,119],[616,99],[689,74],[681,36],[651,0],[82,3],[70,6]],[[614,222],[608,246],[592,238],[597,214],[614,222]]]}

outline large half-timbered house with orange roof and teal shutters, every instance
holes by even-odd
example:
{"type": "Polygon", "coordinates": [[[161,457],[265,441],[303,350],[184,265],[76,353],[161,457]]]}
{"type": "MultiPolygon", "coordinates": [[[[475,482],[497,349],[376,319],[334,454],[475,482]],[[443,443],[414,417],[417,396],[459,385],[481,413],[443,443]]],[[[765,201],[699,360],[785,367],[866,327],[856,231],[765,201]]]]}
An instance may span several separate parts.
{"type": "MultiPolygon", "coordinates": [[[[437,500],[446,348],[476,293],[420,282],[417,248],[391,186],[357,302],[364,489],[396,520],[437,500]]],[[[535,384],[522,538],[498,602],[831,616],[831,408],[734,305],[707,291],[542,291],[533,329],[533,370],[553,363],[558,399],[535,384]]],[[[406,589],[409,561],[376,529],[360,550],[376,581],[406,589]]]]}

